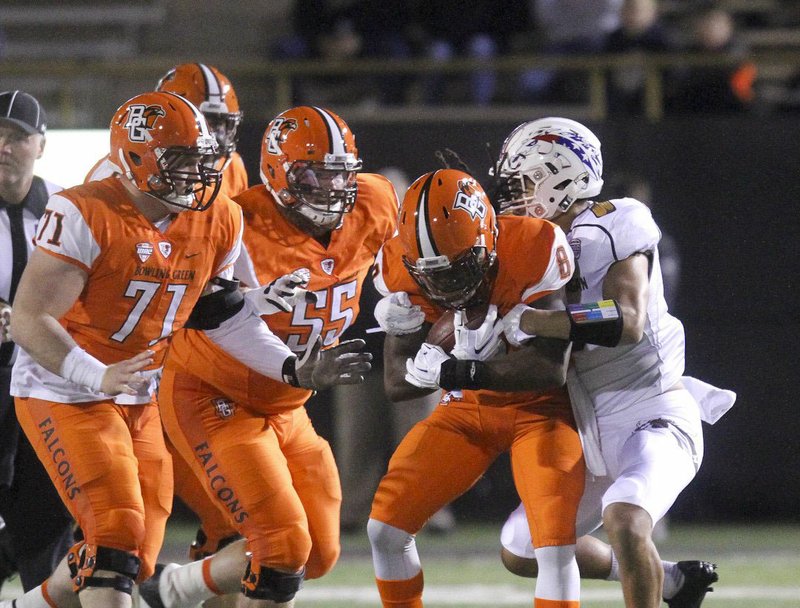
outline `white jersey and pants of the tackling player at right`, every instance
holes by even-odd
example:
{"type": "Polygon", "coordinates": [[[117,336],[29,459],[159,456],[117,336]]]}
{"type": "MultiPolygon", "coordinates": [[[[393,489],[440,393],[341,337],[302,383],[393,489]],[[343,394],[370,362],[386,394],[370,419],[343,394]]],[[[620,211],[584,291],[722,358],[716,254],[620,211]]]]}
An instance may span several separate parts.
{"type": "MultiPolygon", "coordinates": [[[[579,536],[599,527],[603,511],[614,503],[643,508],[653,523],[661,519],[702,462],[701,417],[715,422],[736,398],[681,376],[683,325],[664,301],[660,237],[650,210],[632,198],[595,203],[573,220],[567,234],[576,266],[568,300],[574,285],[580,286],[581,302],[602,300],[612,264],[639,252],[651,260],[642,339],[572,351],[567,388],[591,473],[578,509],[579,536]],[[684,389],[669,390],[679,380],[684,389]]],[[[515,555],[535,557],[522,505],[506,520],[501,542],[515,555]]]]}

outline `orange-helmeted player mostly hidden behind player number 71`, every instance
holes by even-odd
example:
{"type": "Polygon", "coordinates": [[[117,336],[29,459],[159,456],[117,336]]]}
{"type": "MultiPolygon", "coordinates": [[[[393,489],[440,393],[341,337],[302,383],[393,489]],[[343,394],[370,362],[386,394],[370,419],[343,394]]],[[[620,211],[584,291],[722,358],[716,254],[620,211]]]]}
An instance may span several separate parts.
{"type": "MultiPolygon", "coordinates": [[[[156,91],[175,93],[191,101],[205,116],[217,140],[217,168],[222,171],[220,192],[234,197],[247,190],[247,170],[236,151],[242,112],[236,91],[222,72],[203,63],[182,63],[170,69],[156,85],[156,91]]],[[[104,179],[119,173],[115,161],[105,157],[86,174],[84,182],[104,179]]]]}

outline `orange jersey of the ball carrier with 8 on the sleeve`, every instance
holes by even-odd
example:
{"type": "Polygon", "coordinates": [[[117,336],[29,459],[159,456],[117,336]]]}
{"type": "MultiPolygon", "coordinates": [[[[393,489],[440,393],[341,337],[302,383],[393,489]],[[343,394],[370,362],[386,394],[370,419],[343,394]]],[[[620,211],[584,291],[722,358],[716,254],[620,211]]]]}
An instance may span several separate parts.
{"type": "MultiPolygon", "coordinates": [[[[520,302],[531,303],[563,287],[574,268],[572,249],[566,235],[555,224],[528,217],[497,218],[497,277],[489,298],[499,316],[520,302]]],[[[395,237],[388,241],[379,256],[376,287],[383,293],[405,291],[412,303],[434,323],[443,310],[427,300],[411,278],[402,260],[402,245],[395,237]]],[[[452,394],[451,394],[452,395],[452,394]]],[[[463,400],[483,405],[530,405],[535,402],[567,402],[566,390],[547,393],[463,391],[463,400]]]]}

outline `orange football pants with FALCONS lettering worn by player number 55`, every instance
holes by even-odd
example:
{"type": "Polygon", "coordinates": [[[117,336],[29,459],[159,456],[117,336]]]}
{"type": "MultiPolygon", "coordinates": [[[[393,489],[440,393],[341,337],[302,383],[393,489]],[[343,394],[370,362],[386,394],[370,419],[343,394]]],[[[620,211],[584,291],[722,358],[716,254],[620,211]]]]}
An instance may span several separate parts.
{"type": "Polygon", "coordinates": [[[247,539],[254,564],[305,566],[306,578],[333,568],[340,552],[339,473],[305,408],[256,412],[171,369],[161,378],[159,404],[173,445],[247,539]]]}

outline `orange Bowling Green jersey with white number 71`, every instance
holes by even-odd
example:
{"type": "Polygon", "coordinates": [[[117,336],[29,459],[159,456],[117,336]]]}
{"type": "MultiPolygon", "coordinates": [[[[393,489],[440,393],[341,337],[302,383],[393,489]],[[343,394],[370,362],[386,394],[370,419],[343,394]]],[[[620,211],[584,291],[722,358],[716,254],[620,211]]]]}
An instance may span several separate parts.
{"type": "Polygon", "coordinates": [[[86,286],[61,318],[78,345],[106,364],[146,349],[161,365],[168,338],[189,317],[209,279],[232,273],[241,209],[218,196],[203,212],[184,211],[162,232],[117,177],[50,198],[36,243],[82,268],[86,286]]]}

